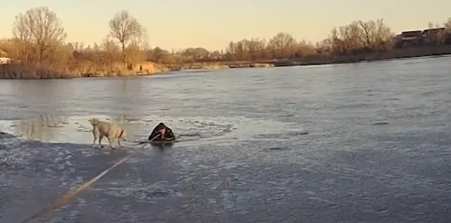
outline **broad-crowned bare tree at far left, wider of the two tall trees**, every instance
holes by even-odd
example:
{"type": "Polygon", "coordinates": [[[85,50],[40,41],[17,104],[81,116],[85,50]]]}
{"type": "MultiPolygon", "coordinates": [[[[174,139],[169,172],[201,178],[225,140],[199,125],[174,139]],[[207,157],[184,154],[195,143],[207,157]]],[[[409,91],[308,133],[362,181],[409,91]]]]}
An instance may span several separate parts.
{"type": "MultiPolygon", "coordinates": [[[[23,51],[32,47],[37,54],[38,63],[44,57],[53,56],[56,46],[62,44],[67,34],[62,27],[61,20],[56,13],[47,7],[37,7],[20,13],[13,24],[13,36],[23,51]]],[[[30,55],[27,56],[30,59],[30,55]]]]}

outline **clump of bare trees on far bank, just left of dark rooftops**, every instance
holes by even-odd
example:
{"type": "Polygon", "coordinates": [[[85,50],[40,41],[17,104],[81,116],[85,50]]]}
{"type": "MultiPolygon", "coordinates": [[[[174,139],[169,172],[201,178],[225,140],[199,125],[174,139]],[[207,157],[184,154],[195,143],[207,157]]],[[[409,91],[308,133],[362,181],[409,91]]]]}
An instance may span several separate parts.
{"type": "Polygon", "coordinates": [[[297,41],[288,33],[280,32],[265,40],[243,39],[228,44],[226,60],[270,60],[302,58],[311,54],[355,55],[374,51],[387,51],[394,37],[390,27],[382,19],[355,21],[349,25],[334,27],[328,38],[311,44],[297,41]]]}

